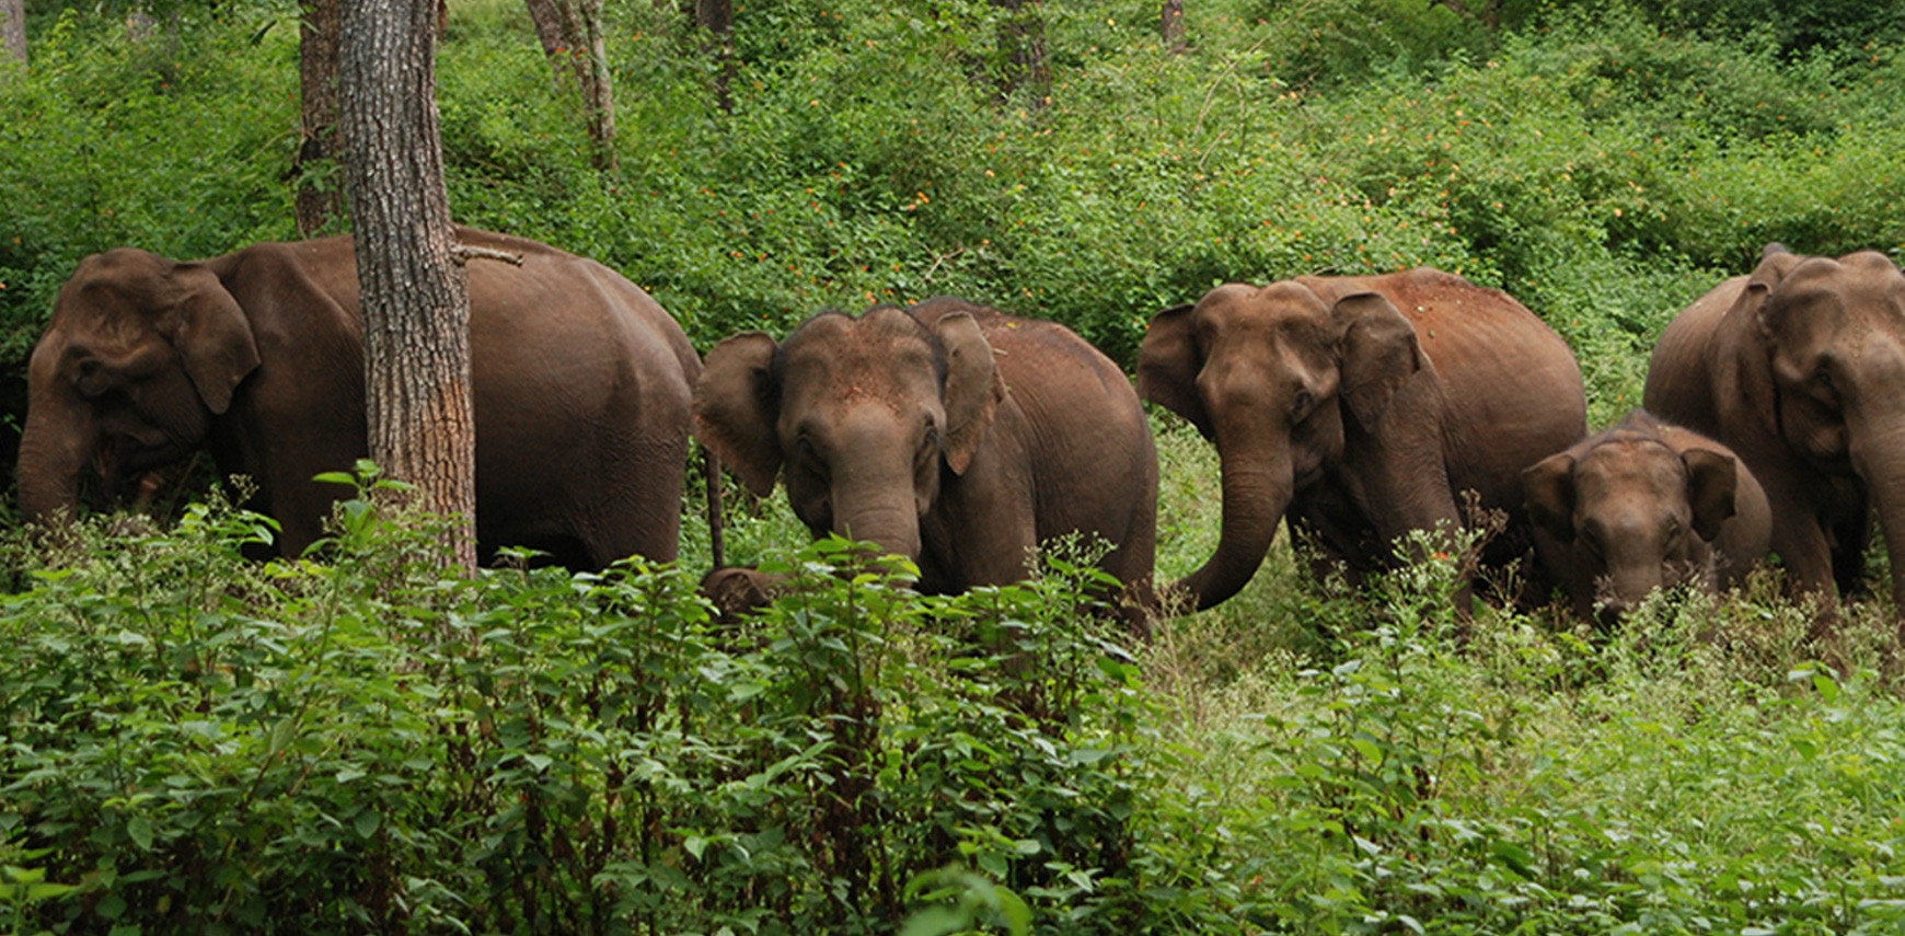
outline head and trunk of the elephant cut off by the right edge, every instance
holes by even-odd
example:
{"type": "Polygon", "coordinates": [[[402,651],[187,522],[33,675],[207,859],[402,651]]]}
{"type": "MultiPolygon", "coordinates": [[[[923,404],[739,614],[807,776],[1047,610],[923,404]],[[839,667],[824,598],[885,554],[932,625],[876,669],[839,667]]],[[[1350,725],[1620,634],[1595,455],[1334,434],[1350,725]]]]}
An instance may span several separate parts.
{"type": "Polygon", "coordinates": [[[1735,315],[1777,437],[1821,475],[1855,475],[1878,511],[1892,589],[1905,599],[1905,275],[1884,254],[1800,257],[1774,244],[1735,315]]]}

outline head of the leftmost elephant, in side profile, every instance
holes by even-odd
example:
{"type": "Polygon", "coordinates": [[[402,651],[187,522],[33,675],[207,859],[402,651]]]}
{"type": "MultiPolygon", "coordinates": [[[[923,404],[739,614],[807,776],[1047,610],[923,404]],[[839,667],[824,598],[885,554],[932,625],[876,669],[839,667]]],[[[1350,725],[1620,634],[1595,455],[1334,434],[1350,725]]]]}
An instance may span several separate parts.
{"type": "Polygon", "coordinates": [[[27,370],[19,501],[32,522],[196,448],[257,368],[251,324],[219,278],[143,250],[95,254],[59,290],[27,370]]]}

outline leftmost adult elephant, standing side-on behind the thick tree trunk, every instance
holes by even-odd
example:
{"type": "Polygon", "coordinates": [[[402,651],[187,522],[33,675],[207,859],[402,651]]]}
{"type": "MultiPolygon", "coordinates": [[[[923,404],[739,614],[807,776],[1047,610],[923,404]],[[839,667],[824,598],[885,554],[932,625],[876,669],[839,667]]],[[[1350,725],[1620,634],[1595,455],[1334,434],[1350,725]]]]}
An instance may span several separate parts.
{"type": "MultiPolygon", "coordinates": [[[[476,539],[572,568],[676,557],[688,404],[701,362],[655,301],[600,263],[457,229],[522,267],[469,267],[476,539]]],[[[322,536],[364,458],[364,339],[349,236],[255,244],[198,263],[86,257],[32,351],[19,501],[48,520],[82,475],[120,478],[208,446],[250,475],[278,549],[322,536]]]]}

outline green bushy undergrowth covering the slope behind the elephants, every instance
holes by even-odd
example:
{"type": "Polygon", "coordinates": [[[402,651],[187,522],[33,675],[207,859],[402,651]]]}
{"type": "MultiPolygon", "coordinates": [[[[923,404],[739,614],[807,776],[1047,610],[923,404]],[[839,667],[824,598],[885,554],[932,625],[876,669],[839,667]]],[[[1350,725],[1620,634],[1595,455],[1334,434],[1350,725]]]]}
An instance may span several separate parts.
{"type": "MultiPolygon", "coordinates": [[[[29,4],[0,82],[0,404],[53,294],[120,244],[295,238],[286,4],[29,4]]],[[[1429,263],[1583,358],[1593,421],[1667,318],[1768,240],[1905,244],[1905,11],[1852,0],[751,2],[724,69],[690,13],[606,10],[617,164],[520,4],[453,2],[459,221],[598,257],[697,347],[823,307],[962,294],[1132,364],[1213,282],[1429,263]],[[1021,80],[1033,17],[1038,80],[1021,80]],[[1017,32],[1012,32],[1017,34],[1017,32]],[[1017,69],[1017,71],[1015,71],[1017,69]]],[[[307,185],[337,185],[309,172],[307,185]]],[[[11,463],[11,446],[0,454],[11,463]]]]}

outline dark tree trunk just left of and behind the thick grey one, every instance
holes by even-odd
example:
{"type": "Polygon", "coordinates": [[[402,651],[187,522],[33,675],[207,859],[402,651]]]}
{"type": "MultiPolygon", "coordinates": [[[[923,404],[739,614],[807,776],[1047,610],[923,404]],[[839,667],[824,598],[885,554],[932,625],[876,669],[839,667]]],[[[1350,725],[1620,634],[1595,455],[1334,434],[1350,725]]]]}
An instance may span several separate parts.
{"type": "Polygon", "coordinates": [[[297,187],[297,233],[316,236],[343,215],[337,177],[337,32],[339,0],[301,0],[297,84],[303,99],[301,143],[291,156],[297,187]]]}

